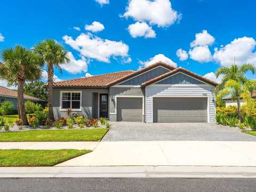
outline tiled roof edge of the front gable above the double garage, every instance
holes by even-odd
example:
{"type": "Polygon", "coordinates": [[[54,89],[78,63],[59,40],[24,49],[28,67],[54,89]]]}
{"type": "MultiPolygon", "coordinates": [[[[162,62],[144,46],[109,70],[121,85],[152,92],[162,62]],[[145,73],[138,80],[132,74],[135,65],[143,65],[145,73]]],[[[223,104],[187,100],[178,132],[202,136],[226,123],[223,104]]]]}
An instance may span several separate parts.
{"type": "Polygon", "coordinates": [[[214,86],[218,85],[218,83],[213,82],[213,81],[211,81],[210,79],[207,79],[207,78],[205,78],[205,77],[202,77],[202,76],[200,76],[200,75],[197,75],[197,74],[193,73],[193,72],[190,71],[190,70],[187,70],[187,69],[184,69],[184,68],[182,68],[182,67],[179,67],[179,68],[174,69],[174,70],[172,70],[172,71],[170,71],[170,72],[167,72],[167,73],[165,73],[165,74],[163,74],[163,75],[161,75],[161,76],[158,76],[158,77],[155,77],[155,78],[153,78],[153,79],[150,79],[149,81],[146,81],[146,82],[142,83],[141,86],[147,86],[147,85],[153,84],[153,83],[155,83],[155,82],[160,81],[161,79],[163,79],[163,78],[165,78],[165,77],[168,77],[168,76],[170,76],[170,75],[173,75],[173,74],[175,74],[175,73],[178,73],[179,71],[181,71],[181,72],[183,72],[183,73],[185,73],[185,74],[188,74],[188,75],[190,75],[190,76],[193,76],[193,77],[195,77],[195,78],[197,78],[197,79],[200,79],[200,80],[203,81],[203,82],[210,83],[210,84],[212,84],[212,85],[214,85],[214,86]]]}

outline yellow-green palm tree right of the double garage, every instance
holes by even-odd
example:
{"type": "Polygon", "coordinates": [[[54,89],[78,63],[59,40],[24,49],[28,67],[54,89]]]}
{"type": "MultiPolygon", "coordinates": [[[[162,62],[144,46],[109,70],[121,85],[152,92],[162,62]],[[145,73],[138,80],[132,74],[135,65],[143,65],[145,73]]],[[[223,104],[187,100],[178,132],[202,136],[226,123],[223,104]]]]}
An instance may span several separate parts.
{"type": "Polygon", "coordinates": [[[216,87],[215,92],[222,95],[231,94],[231,98],[237,101],[237,112],[240,122],[242,122],[241,116],[241,105],[240,105],[240,94],[242,93],[242,86],[247,82],[245,73],[251,71],[255,73],[255,67],[252,64],[245,63],[242,66],[231,65],[230,67],[221,67],[217,70],[217,78],[223,75],[222,82],[216,87]],[[229,91],[227,91],[229,89],[229,91]]]}

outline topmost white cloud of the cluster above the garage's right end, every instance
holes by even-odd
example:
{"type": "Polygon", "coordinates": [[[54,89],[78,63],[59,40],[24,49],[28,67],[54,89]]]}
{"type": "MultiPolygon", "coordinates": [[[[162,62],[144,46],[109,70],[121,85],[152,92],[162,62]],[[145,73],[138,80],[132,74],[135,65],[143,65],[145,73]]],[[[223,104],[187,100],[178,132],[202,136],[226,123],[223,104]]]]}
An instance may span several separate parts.
{"type": "Polygon", "coordinates": [[[203,30],[202,33],[196,34],[196,39],[190,43],[191,47],[195,46],[205,46],[212,45],[215,41],[215,38],[211,36],[207,30],[203,30]]]}

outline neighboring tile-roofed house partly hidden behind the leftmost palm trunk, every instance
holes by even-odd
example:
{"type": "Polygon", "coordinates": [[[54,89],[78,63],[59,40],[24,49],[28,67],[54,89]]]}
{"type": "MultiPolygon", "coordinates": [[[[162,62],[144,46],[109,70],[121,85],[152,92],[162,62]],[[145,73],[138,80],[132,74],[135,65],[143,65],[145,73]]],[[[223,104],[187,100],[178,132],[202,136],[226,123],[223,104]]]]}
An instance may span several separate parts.
{"type": "MultiPolygon", "coordinates": [[[[0,103],[4,101],[10,101],[14,105],[14,109],[17,110],[17,97],[18,92],[15,90],[8,89],[6,87],[0,86],[0,103]]],[[[45,101],[27,94],[24,94],[24,100],[31,100],[40,103],[42,106],[45,105],[45,101]]]]}

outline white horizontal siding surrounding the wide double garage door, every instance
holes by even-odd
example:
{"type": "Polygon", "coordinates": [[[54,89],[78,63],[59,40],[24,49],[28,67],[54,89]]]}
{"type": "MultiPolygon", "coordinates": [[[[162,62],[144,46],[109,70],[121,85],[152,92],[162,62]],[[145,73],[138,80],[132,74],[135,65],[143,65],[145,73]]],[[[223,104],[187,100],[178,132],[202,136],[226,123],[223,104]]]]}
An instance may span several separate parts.
{"type": "Polygon", "coordinates": [[[157,86],[149,85],[146,87],[146,122],[153,123],[153,98],[154,97],[203,97],[209,98],[210,123],[215,123],[215,97],[213,94],[214,87],[209,85],[166,85],[157,86]]]}

